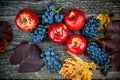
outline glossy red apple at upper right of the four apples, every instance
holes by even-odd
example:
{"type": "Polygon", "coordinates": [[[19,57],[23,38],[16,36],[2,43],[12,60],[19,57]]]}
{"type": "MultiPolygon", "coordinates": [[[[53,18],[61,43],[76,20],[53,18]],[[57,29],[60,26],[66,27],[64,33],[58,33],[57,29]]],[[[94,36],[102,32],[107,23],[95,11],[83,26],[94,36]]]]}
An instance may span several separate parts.
{"type": "Polygon", "coordinates": [[[64,21],[70,30],[80,30],[85,24],[86,17],[81,10],[71,9],[65,14],[64,21]]]}

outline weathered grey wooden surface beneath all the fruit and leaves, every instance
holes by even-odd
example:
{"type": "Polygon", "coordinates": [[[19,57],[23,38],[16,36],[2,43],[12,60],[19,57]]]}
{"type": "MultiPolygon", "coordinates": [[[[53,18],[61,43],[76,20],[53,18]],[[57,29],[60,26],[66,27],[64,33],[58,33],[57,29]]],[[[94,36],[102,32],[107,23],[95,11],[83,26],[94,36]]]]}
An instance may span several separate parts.
{"type": "MultiPolygon", "coordinates": [[[[120,0],[0,0],[0,21],[8,21],[12,27],[14,38],[10,41],[6,54],[0,55],[0,78],[56,78],[63,79],[64,77],[58,73],[50,73],[45,67],[37,72],[32,73],[18,73],[18,65],[10,65],[8,62],[8,52],[22,41],[30,41],[29,33],[23,33],[15,26],[14,18],[17,12],[23,8],[30,8],[34,10],[39,17],[41,17],[46,6],[54,3],[56,7],[65,6],[62,13],[72,8],[81,9],[86,16],[96,15],[100,12],[108,12],[113,14],[120,14],[120,0]]],[[[79,33],[79,32],[71,32],[79,33]]],[[[45,50],[52,46],[59,54],[59,58],[63,61],[66,57],[70,57],[66,53],[65,44],[57,45],[46,39],[38,44],[38,46],[45,50]]],[[[84,61],[91,62],[92,60],[85,55],[79,55],[84,61]]],[[[93,71],[93,78],[120,78],[120,72],[110,72],[107,77],[101,75],[99,70],[93,71]]]]}

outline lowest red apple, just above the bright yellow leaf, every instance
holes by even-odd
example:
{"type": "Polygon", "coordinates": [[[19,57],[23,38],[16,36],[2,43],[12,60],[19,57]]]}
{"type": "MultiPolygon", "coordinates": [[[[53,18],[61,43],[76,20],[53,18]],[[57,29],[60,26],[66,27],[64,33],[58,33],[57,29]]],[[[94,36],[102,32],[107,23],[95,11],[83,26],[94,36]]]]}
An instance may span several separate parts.
{"type": "Polygon", "coordinates": [[[79,35],[73,34],[66,41],[67,51],[73,54],[82,54],[86,49],[86,39],[79,35]]]}

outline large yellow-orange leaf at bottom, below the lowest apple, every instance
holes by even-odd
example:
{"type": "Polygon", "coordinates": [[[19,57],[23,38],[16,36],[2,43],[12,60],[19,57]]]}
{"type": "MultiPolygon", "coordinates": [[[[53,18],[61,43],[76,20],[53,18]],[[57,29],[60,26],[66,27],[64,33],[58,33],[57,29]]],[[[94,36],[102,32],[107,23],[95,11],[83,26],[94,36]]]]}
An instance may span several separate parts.
{"type": "MultiPolygon", "coordinates": [[[[71,53],[70,53],[71,54],[71,53]]],[[[65,63],[60,70],[60,74],[72,79],[72,80],[91,80],[92,79],[92,70],[96,69],[96,65],[94,63],[87,63],[82,61],[75,54],[71,54],[72,58],[65,59],[65,63]]]]}

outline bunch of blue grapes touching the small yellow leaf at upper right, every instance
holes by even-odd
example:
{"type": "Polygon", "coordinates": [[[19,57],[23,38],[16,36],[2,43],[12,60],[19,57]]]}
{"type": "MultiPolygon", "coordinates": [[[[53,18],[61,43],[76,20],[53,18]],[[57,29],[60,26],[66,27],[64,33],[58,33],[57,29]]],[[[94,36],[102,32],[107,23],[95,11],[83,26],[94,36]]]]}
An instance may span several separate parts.
{"type": "Polygon", "coordinates": [[[95,19],[93,16],[89,17],[82,29],[82,35],[86,38],[94,37],[98,32],[99,26],[100,20],[95,19]]]}

